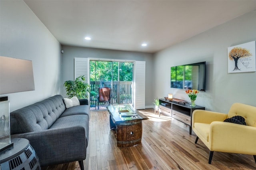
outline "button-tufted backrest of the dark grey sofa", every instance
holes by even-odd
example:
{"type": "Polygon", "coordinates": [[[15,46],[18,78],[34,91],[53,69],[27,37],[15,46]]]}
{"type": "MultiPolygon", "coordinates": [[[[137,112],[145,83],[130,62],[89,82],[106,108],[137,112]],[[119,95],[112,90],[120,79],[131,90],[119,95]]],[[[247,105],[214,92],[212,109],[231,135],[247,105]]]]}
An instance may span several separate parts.
{"type": "Polygon", "coordinates": [[[61,95],[23,107],[10,113],[11,134],[48,129],[65,111],[61,95]]]}

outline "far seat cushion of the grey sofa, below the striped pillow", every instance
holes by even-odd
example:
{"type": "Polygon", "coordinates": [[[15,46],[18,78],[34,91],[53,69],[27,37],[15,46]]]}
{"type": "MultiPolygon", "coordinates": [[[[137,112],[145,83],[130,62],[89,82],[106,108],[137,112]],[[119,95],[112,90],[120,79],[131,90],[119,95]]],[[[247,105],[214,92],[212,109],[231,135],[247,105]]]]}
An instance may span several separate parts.
{"type": "Polygon", "coordinates": [[[90,108],[88,105],[79,105],[75,107],[70,107],[66,109],[60,117],[70,116],[70,115],[88,115],[90,114],[90,108]]]}

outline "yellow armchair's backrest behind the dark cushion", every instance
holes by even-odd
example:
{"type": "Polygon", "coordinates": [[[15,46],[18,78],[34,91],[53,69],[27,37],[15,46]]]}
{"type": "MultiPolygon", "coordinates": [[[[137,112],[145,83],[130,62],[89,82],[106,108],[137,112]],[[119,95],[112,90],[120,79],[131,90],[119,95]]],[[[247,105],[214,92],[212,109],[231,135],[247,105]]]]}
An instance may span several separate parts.
{"type": "Polygon", "coordinates": [[[256,107],[242,103],[234,103],[228,112],[228,118],[233,116],[242,116],[246,125],[256,127],[256,107]]]}

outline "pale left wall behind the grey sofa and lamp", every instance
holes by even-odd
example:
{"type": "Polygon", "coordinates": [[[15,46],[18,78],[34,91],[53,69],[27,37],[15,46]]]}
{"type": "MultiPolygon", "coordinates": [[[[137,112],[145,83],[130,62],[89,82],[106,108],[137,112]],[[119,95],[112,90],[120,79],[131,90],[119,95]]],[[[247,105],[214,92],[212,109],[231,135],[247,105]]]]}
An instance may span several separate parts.
{"type": "Polygon", "coordinates": [[[0,1],[0,55],[33,64],[35,91],[2,95],[10,111],[60,93],[60,43],[24,1],[0,1]]]}

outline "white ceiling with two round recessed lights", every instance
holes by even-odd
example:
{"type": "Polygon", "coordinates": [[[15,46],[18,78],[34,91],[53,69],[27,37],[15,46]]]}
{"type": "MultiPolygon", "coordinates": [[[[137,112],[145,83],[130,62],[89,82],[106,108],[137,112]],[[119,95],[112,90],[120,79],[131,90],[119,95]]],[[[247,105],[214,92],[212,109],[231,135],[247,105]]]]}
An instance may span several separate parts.
{"type": "Polygon", "coordinates": [[[62,45],[149,53],[256,9],[256,0],[24,1],[62,45]]]}

